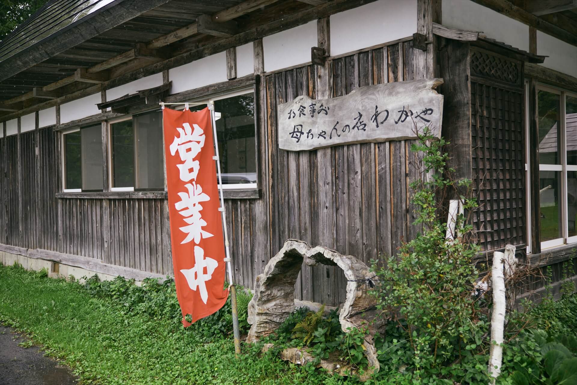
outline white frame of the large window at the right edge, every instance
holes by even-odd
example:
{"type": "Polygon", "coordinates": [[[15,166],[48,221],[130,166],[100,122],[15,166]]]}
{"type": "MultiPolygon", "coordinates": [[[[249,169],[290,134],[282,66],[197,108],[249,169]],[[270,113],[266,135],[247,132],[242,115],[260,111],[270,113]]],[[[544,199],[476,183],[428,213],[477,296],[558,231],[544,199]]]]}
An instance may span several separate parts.
{"type": "MultiPolygon", "coordinates": [[[[544,251],[545,249],[551,249],[551,248],[556,248],[559,246],[564,246],[564,245],[569,245],[569,244],[574,244],[577,243],[577,236],[574,237],[569,237],[569,229],[568,229],[568,190],[567,190],[567,171],[577,171],[577,165],[567,165],[567,122],[565,121],[565,108],[567,106],[567,96],[571,96],[574,98],[577,98],[577,94],[575,94],[574,92],[571,91],[566,91],[564,89],[560,89],[560,88],[554,88],[554,87],[550,87],[549,85],[545,85],[542,83],[537,83],[537,92],[539,91],[545,91],[545,92],[550,92],[552,94],[556,94],[559,95],[559,102],[560,102],[560,117],[559,117],[559,127],[557,128],[557,135],[559,135],[561,137],[561,148],[560,148],[560,152],[561,152],[561,164],[560,165],[548,165],[548,164],[541,164],[539,161],[538,167],[539,167],[539,171],[557,171],[561,173],[561,199],[560,199],[560,204],[561,204],[561,234],[562,237],[560,238],[556,238],[554,240],[549,240],[549,241],[544,241],[541,242],[541,251],[544,251]]],[[[527,87],[527,83],[526,83],[526,107],[529,106],[529,87],[527,87]]],[[[537,95],[534,95],[535,98],[537,98],[537,95]]],[[[538,108],[538,105],[537,105],[538,108]]],[[[527,111],[527,115],[526,115],[526,145],[527,145],[527,165],[529,164],[529,154],[530,154],[530,148],[529,148],[529,115],[528,115],[528,108],[526,108],[527,111]]],[[[539,129],[538,127],[536,127],[535,129],[539,129]]],[[[538,145],[538,144],[537,144],[538,145]]],[[[531,184],[531,180],[529,178],[529,167],[526,167],[527,169],[527,201],[530,202],[530,196],[529,196],[529,187],[531,184]]],[[[539,197],[540,199],[540,197],[539,197]]],[[[527,204],[527,218],[531,218],[531,205],[527,204]]],[[[527,220],[527,234],[529,234],[529,237],[527,239],[531,239],[531,225],[530,225],[530,220],[527,220]]],[[[527,242],[529,243],[529,242],[527,242]]],[[[528,249],[527,251],[528,253],[530,252],[530,249],[528,249]]]]}

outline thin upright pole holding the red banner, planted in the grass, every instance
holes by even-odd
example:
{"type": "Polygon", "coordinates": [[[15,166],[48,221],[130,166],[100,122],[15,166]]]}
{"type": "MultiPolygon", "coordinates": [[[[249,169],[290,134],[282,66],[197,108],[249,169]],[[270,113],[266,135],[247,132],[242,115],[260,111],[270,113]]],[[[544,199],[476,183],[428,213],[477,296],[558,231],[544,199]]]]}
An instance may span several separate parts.
{"type": "Polygon", "coordinates": [[[222,177],[220,176],[220,157],[218,154],[218,140],[216,138],[216,119],[215,119],[215,103],[211,100],[208,104],[208,109],[211,110],[212,132],[215,143],[215,160],[216,170],[218,171],[218,183],[220,192],[220,212],[222,214],[222,223],[224,227],[224,248],[226,249],[226,259],[228,262],[228,283],[230,285],[230,304],[233,310],[233,334],[234,334],[234,353],[236,356],[241,354],[241,334],[238,330],[238,309],[237,309],[237,287],[233,283],[233,266],[230,260],[230,248],[228,247],[228,233],[226,231],[226,212],[224,211],[224,198],[222,193],[222,177]]]}

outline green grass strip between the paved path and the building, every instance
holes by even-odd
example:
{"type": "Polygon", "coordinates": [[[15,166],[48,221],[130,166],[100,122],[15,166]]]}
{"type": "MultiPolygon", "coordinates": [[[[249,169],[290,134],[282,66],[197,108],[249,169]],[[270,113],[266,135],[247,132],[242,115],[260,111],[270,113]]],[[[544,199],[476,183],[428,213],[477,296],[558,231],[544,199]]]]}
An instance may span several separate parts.
{"type": "Polygon", "coordinates": [[[286,364],[230,337],[205,342],[174,319],[126,312],[78,283],[0,266],[0,322],[62,359],[85,384],[319,384],[347,382],[286,364]]]}

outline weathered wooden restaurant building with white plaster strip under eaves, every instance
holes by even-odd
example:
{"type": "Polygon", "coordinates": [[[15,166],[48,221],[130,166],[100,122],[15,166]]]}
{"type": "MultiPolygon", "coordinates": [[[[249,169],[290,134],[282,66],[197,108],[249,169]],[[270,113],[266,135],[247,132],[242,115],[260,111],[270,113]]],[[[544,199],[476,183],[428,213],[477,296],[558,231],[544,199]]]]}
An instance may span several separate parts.
{"type": "MultiPolygon", "coordinates": [[[[222,114],[238,283],[288,238],[391,255],[418,231],[411,140],[284,151],[276,107],[433,77],[484,253],[577,280],[575,0],[48,1],[0,42],[2,261],[173,274],[159,100],[222,114]]],[[[336,305],[345,285],[304,267],[297,295],[336,305]]]]}

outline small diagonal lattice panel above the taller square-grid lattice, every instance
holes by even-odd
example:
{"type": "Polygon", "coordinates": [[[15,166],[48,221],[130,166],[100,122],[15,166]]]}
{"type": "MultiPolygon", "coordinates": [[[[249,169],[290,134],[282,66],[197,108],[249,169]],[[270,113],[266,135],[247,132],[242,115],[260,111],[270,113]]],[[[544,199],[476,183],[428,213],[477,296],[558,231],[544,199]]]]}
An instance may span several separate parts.
{"type": "Polygon", "coordinates": [[[513,59],[471,50],[471,75],[521,85],[520,63],[513,59]]]}

